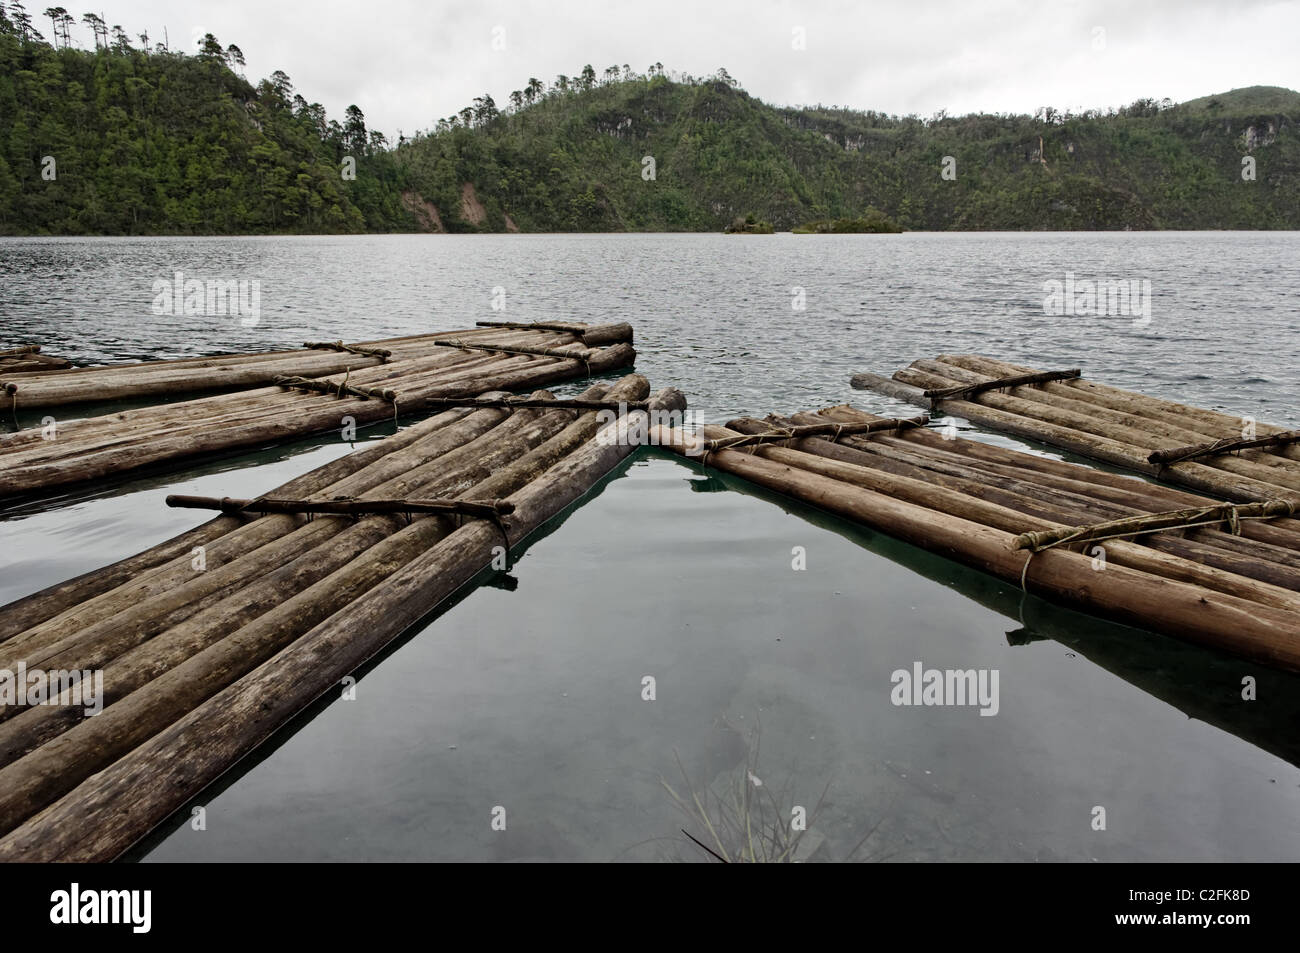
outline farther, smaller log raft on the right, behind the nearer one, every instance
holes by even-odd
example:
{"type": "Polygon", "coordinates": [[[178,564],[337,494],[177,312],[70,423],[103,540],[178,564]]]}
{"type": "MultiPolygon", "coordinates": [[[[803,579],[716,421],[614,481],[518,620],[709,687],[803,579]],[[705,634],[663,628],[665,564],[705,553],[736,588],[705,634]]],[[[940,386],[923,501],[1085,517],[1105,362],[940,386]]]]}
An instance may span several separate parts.
{"type": "Polygon", "coordinates": [[[1223,499],[1300,501],[1296,430],[1078,376],[988,386],[1018,376],[1043,377],[1044,372],[958,354],[913,361],[892,378],[855,374],[852,384],[1223,499]],[[944,397],[963,389],[965,395],[944,397]]]}

